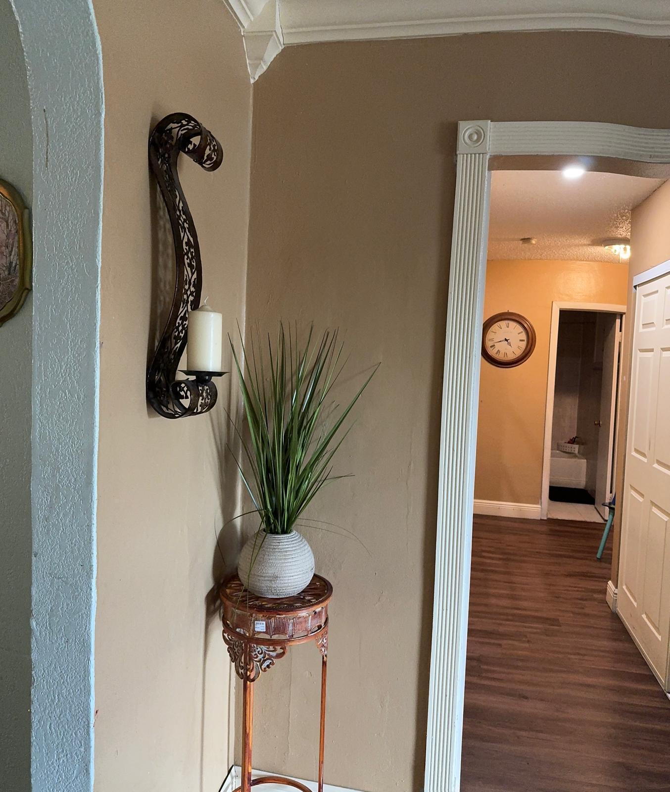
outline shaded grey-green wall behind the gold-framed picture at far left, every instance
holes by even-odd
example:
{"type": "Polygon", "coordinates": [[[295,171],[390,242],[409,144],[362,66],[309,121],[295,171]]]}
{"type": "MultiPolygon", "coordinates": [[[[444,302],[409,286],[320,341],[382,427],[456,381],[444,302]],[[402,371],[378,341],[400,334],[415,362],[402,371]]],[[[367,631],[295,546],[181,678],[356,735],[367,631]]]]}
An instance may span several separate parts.
{"type": "MultiPolygon", "coordinates": [[[[0,0],[0,179],[32,198],[25,59],[0,0]]],[[[0,789],[30,789],[30,426],[32,297],[0,326],[0,789]]]]}

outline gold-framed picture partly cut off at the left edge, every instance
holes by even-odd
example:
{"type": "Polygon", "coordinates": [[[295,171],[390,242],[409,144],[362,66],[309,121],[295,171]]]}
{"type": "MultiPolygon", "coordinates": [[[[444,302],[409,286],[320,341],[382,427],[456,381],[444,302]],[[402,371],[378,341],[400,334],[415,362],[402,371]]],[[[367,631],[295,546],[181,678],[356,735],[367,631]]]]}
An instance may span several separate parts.
{"type": "Polygon", "coordinates": [[[30,213],[17,189],[0,180],[0,325],[17,313],[31,287],[30,213]]]}

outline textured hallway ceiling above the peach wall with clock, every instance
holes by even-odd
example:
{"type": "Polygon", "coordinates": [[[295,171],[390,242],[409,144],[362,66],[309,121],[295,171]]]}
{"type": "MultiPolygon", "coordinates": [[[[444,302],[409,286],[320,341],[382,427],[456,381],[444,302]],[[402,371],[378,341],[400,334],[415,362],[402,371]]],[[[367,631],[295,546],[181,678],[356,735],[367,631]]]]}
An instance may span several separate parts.
{"type": "Polygon", "coordinates": [[[630,237],[630,210],[663,179],[559,171],[497,170],[491,181],[489,258],[619,261],[604,239],[630,237]],[[522,245],[535,237],[536,245],[522,245]]]}

